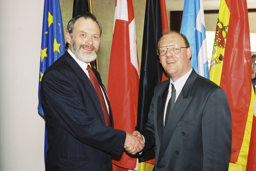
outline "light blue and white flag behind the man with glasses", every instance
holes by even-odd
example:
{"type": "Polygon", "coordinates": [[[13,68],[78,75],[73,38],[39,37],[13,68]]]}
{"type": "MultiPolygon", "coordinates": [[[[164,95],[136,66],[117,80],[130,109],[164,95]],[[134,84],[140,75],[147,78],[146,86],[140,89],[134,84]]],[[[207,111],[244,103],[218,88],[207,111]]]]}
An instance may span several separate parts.
{"type": "Polygon", "coordinates": [[[185,0],[180,32],[192,48],[191,66],[209,79],[205,24],[202,0],[185,0]]]}

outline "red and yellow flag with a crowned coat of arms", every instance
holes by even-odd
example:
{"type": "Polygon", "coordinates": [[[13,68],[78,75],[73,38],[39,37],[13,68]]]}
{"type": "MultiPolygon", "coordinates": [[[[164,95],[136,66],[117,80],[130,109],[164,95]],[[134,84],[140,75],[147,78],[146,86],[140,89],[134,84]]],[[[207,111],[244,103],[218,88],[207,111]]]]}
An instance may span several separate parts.
{"type": "Polygon", "coordinates": [[[226,92],[230,105],[229,171],[246,170],[255,100],[251,73],[246,0],[221,0],[209,76],[226,92]]]}

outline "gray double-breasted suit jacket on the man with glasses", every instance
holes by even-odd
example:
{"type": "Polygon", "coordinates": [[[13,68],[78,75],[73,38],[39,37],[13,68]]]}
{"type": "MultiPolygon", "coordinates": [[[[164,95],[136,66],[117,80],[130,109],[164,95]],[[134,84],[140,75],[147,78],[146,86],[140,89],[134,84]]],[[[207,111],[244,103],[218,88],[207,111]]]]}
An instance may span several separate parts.
{"type": "Polygon", "coordinates": [[[232,124],[226,93],[192,70],[164,128],[169,84],[166,80],[155,88],[149,120],[141,131],[143,152],[155,146],[155,170],[228,170],[232,124]]]}

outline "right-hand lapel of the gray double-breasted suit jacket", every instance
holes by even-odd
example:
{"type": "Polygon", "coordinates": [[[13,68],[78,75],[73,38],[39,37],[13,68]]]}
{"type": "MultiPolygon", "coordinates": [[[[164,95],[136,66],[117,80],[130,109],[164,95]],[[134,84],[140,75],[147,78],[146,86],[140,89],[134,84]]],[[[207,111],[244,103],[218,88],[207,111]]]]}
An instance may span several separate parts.
{"type": "MultiPolygon", "coordinates": [[[[184,84],[184,87],[182,88],[179,97],[177,98],[172,111],[170,113],[170,117],[168,119],[168,122],[166,124],[166,127],[163,131],[163,138],[161,141],[161,146],[159,149],[159,156],[158,156],[158,162],[162,159],[167,146],[169,145],[170,139],[172,137],[173,131],[179,122],[180,118],[182,117],[183,113],[187,109],[188,104],[192,100],[192,97],[190,97],[190,92],[193,86],[193,83],[197,77],[197,73],[192,70],[191,74],[189,75],[187,81],[184,84]]],[[[162,122],[163,125],[163,122],[162,122]]]]}

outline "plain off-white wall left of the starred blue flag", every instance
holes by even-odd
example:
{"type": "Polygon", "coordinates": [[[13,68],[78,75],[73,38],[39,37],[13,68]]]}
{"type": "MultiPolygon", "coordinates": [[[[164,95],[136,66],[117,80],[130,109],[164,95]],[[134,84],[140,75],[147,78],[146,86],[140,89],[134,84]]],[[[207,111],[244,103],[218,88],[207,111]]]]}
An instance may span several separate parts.
{"type": "Polygon", "coordinates": [[[0,1],[0,170],[44,170],[37,113],[44,1],[0,1]]]}

